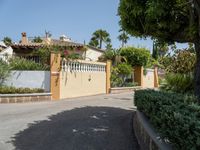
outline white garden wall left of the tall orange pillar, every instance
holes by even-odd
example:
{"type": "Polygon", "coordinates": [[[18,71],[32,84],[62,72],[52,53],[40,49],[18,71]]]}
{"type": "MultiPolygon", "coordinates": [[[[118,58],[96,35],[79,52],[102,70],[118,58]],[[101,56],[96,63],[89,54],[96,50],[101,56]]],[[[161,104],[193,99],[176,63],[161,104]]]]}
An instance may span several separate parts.
{"type": "Polygon", "coordinates": [[[50,91],[50,72],[49,71],[11,71],[11,75],[4,85],[41,88],[46,92],[50,91]]]}

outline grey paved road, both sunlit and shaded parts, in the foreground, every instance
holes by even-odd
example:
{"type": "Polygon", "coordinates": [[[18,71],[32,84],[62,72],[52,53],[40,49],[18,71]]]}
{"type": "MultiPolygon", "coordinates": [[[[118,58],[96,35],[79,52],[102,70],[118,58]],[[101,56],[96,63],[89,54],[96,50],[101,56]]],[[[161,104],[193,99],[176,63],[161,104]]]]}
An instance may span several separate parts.
{"type": "Polygon", "coordinates": [[[0,150],[137,150],[132,97],[0,104],[0,150]]]}

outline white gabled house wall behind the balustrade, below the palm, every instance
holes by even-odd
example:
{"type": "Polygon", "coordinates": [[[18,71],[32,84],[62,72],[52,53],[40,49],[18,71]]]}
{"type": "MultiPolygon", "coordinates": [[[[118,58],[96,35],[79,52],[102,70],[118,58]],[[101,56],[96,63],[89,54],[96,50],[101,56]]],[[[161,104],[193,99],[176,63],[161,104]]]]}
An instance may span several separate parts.
{"type": "Polygon", "coordinates": [[[101,51],[97,51],[95,49],[92,49],[90,47],[88,47],[87,51],[86,51],[86,60],[88,61],[97,61],[98,58],[103,54],[103,52],[101,51]]]}

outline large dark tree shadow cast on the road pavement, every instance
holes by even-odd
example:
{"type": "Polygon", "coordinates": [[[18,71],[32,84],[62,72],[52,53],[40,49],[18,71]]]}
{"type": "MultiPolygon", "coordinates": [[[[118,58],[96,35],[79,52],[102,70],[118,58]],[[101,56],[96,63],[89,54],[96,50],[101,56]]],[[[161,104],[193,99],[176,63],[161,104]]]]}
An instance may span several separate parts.
{"type": "Polygon", "coordinates": [[[13,138],[16,150],[138,150],[133,111],[84,107],[35,122],[13,138]]]}

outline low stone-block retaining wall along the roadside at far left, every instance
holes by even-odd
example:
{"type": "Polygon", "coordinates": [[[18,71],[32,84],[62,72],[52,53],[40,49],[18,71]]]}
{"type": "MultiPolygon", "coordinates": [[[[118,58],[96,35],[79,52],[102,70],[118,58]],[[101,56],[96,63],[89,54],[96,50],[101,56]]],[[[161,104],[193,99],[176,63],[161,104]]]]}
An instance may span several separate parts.
{"type": "Polygon", "coordinates": [[[51,93],[0,94],[0,103],[27,103],[50,101],[51,93]]]}

